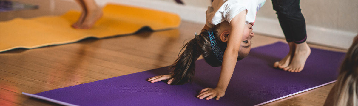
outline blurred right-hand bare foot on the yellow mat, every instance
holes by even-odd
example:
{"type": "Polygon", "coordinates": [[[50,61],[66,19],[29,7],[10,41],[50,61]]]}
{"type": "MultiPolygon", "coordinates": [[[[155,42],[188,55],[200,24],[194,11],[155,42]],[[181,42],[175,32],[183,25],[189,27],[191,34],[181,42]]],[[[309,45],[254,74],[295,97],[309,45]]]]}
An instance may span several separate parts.
{"type": "Polygon", "coordinates": [[[79,25],[80,29],[88,29],[91,28],[101,17],[102,17],[102,10],[97,8],[91,11],[88,11],[84,20],[79,25]]]}

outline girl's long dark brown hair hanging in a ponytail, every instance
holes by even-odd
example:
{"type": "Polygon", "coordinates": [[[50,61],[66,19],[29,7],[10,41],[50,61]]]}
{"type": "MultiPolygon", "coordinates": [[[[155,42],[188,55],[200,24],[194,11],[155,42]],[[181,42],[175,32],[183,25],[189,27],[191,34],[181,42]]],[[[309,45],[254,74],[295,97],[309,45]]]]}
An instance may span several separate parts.
{"type": "MultiPolygon", "coordinates": [[[[213,27],[214,36],[218,39],[217,27],[213,27]]],[[[220,40],[217,42],[222,43],[220,40]]],[[[219,43],[219,44],[220,44],[219,43]]],[[[226,45],[225,45],[226,47],[226,45]]],[[[187,82],[192,82],[195,72],[195,61],[200,55],[203,55],[205,61],[211,66],[221,66],[221,62],[216,59],[211,49],[210,38],[208,32],[202,31],[195,38],[190,39],[189,42],[185,43],[183,48],[180,50],[178,59],[175,60],[174,64],[171,65],[171,78],[174,78],[170,83],[171,85],[180,85],[187,82]],[[184,50],[184,51],[183,51],[184,50]]]]}

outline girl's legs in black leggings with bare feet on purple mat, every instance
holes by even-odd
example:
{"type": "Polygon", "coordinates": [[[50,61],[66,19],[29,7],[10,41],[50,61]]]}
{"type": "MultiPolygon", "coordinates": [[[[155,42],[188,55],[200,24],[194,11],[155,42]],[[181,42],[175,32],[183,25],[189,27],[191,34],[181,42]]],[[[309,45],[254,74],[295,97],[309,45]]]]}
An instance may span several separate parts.
{"type": "Polygon", "coordinates": [[[287,56],[275,62],[274,67],[290,72],[300,72],[311,53],[306,43],[306,22],[301,13],[300,0],[272,0],[272,6],[290,47],[287,56]]]}

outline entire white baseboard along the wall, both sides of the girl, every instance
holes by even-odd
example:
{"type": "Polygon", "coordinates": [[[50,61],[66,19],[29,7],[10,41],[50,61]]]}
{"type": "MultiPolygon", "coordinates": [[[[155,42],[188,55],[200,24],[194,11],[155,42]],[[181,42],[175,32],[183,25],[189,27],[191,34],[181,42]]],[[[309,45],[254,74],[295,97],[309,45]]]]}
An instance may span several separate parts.
{"type": "MultiPolygon", "coordinates": [[[[178,14],[183,20],[205,24],[206,8],[175,4],[174,2],[161,0],[97,0],[98,5],[104,6],[108,2],[146,7],[150,9],[168,11],[178,14]]],[[[254,32],[274,37],[284,38],[280,23],[277,19],[257,17],[254,32]]],[[[307,42],[348,49],[357,32],[335,30],[325,27],[306,25],[307,42]]],[[[198,29],[200,30],[200,29],[198,29]]]]}

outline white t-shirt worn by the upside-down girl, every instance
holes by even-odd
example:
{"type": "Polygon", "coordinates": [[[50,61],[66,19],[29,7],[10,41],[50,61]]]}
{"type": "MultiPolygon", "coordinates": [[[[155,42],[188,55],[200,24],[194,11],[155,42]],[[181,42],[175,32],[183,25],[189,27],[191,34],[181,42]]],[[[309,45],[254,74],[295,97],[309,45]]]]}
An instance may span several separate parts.
{"type": "Polygon", "coordinates": [[[256,12],[265,4],[266,0],[214,0],[208,6],[206,25],[213,27],[223,21],[230,21],[241,11],[247,10],[245,25],[255,23],[256,12]]]}

